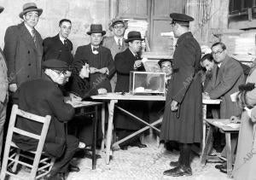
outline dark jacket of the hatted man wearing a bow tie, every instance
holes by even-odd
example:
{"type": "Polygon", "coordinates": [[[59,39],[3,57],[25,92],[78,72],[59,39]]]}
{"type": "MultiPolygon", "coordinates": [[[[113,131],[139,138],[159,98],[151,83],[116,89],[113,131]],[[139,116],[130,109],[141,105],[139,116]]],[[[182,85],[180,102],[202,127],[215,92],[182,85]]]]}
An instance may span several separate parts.
{"type": "Polygon", "coordinates": [[[93,53],[90,44],[79,46],[74,56],[74,63],[76,61],[82,61],[82,63],[88,63],[90,67],[96,67],[101,69],[102,67],[108,67],[108,75],[102,73],[90,73],[90,85],[93,89],[105,88],[108,92],[111,92],[111,85],[109,79],[113,76],[115,71],[113,58],[108,48],[99,47],[99,58],[93,60],[93,53]]]}

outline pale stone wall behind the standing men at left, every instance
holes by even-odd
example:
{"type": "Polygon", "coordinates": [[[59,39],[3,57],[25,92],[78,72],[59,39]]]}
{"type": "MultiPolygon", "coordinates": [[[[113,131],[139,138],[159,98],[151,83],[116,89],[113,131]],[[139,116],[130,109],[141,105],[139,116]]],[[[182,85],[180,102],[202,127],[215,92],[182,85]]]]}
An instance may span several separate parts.
{"type": "Polygon", "coordinates": [[[0,46],[3,48],[3,38],[8,26],[21,22],[19,14],[24,3],[37,3],[38,8],[44,9],[36,29],[42,38],[55,36],[59,32],[58,22],[63,18],[72,20],[72,32],[69,35],[75,49],[90,41],[86,32],[91,23],[101,23],[103,29],[108,27],[109,0],[0,0],[4,7],[0,15],[1,31],[0,46]]]}

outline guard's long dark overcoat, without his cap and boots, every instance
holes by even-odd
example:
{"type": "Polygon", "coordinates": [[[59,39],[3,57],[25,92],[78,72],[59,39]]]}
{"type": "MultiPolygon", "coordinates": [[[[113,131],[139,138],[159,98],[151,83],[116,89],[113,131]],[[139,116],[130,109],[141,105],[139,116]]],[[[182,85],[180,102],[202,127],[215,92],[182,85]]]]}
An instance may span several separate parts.
{"type": "Polygon", "coordinates": [[[202,136],[202,97],[200,67],[201,48],[191,32],[183,33],[177,39],[173,55],[173,78],[168,86],[166,107],[161,125],[160,139],[182,143],[201,142],[202,136]],[[172,112],[171,102],[180,105],[172,112]]]}

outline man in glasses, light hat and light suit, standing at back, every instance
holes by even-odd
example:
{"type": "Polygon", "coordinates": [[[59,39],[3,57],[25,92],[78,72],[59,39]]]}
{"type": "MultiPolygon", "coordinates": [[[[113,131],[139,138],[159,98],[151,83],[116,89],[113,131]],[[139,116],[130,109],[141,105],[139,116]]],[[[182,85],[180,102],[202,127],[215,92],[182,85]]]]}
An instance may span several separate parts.
{"type": "MultiPolygon", "coordinates": [[[[124,20],[114,18],[113,20],[111,20],[109,25],[109,30],[113,32],[113,36],[103,38],[102,45],[110,49],[113,59],[116,54],[118,54],[119,52],[123,52],[128,47],[128,45],[125,43],[124,38],[126,27],[127,24],[124,20]]],[[[114,91],[115,89],[116,79],[117,75],[116,73],[114,73],[113,78],[110,79],[112,91],[114,91]]]]}

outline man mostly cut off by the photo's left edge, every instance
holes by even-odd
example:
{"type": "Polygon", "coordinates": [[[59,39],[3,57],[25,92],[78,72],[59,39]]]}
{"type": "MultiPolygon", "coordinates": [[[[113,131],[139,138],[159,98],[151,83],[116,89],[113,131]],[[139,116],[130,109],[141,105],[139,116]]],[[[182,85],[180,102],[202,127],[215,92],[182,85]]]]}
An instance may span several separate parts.
{"type": "MultiPolygon", "coordinates": [[[[3,7],[0,6],[0,13],[3,12],[3,7]]],[[[6,107],[8,102],[8,77],[7,77],[7,66],[3,51],[0,48],[0,162],[1,153],[3,146],[3,126],[6,118],[6,107]]],[[[1,163],[0,163],[1,166],[1,163]]]]}

